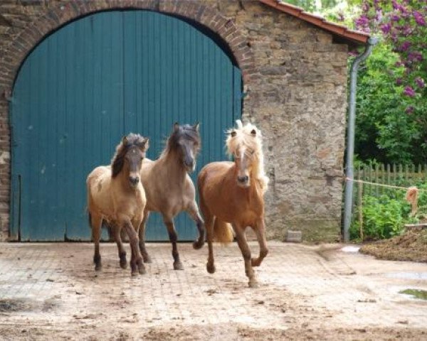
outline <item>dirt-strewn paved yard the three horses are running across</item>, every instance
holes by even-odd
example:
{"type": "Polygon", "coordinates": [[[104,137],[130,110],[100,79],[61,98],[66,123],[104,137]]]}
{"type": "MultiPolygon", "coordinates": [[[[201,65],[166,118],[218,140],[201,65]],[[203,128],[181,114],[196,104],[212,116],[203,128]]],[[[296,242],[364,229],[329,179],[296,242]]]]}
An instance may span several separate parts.
{"type": "MultiPolygon", "coordinates": [[[[251,242],[253,253],[256,244],[251,242]]],[[[427,340],[426,264],[380,261],[352,246],[270,242],[248,288],[236,244],[149,244],[147,274],[130,276],[115,244],[0,244],[0,340],[427,340]]],[[[129,254],[129,252],[128,252],[129,254]]]]}

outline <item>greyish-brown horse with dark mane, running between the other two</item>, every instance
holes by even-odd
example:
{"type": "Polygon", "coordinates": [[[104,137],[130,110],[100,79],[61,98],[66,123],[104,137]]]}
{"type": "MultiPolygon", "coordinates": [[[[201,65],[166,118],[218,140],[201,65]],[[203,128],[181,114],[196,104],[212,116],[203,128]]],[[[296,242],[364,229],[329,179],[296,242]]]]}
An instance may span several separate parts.
{"type": "Polygon", "coordinates": [[[144,159],[141,169],[141,180],[147,195],[144,219],[139,228],[139,247],[146,263],[151,259],[145,249],[145,223],[149,212],[160,212],[172,243],[174,270],[182,270],[176,249],[176,231],[174,217],[181,211],[186,211],[196,222],[199,238],[193,243],[194,249],[204,245],[204,222],[196,204],[194,184],[188,173],[196,167],[196,155],[200,148],[199,124],[180,126],[174,124],[166,147],[156,161],[144,159]]]}

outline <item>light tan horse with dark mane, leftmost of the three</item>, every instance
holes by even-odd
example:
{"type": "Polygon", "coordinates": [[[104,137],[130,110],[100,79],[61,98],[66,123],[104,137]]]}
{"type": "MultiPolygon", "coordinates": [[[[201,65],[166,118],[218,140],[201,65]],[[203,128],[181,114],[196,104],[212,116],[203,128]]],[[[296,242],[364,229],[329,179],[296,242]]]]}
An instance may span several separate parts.
{"type": "Polygon", "coordinates": [[[126,251],[120,239],[120,230],[129,236],[132,256],[132,276],[145,273],[144,263],[138,247],[137,231],[142,222],[146,198],[139,180],[142,159],[148,148],[148,139],[138,135],[124,136],[116,147],[111,166],[95,168],[86,180],[88,188],[89,222],[95,242],[93,261],[95,270],[101,269],[100,234],[102,220],[111,226],[119,248],[120,266],[126,267],[126,251]]]}

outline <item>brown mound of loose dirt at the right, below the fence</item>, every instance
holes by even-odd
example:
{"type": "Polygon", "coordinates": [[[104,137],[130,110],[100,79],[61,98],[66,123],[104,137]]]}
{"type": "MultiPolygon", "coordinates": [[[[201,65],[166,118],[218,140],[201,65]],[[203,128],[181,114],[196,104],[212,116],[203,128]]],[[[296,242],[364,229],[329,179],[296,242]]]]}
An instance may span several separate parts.
{"type": "Polygon", "coordinates": [[[360,251],[378,259],[427,263],[427,229],[408,229],[401,236],[366,244],[360,251]]]}

